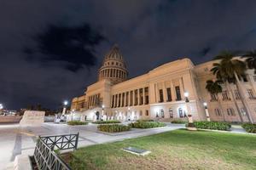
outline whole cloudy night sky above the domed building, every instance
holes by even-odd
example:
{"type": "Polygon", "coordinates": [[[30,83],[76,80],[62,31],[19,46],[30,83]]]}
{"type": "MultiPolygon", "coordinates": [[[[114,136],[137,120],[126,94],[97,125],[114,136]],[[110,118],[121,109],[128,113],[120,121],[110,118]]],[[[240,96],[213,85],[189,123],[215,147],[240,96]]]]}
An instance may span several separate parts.
{"type": "Polygon", "coordinates": [[[57,108],[84,93],[118,43],[130,77],[256,44],[251,0],[0,0],[0,103],[57,108]]]}

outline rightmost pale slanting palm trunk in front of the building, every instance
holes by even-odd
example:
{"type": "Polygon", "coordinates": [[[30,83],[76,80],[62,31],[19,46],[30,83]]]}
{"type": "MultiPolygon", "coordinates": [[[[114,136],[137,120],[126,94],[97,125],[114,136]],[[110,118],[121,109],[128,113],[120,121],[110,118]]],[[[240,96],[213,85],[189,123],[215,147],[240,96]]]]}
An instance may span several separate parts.
{"type": "Polygon", "coordinates": [[[241,97],[241,104],[242,104],[242,106],[243,106],[243,108],[244,108],[244,110],[245,110],[245,112],[247,114],[248,121],[253,123],[250,107],[249,107],[249,105],[247,103],[247,99],[245,97],[245,93],[244,93],[243,89],[241,88],[240,80],[239,80],[239,78],[238,78],[238,76],[236,74],[236,71],[234,72],[234,75],[236,77],[236,88],[237,88],[239,94],[241,95],[240,96],[241,97]]]}

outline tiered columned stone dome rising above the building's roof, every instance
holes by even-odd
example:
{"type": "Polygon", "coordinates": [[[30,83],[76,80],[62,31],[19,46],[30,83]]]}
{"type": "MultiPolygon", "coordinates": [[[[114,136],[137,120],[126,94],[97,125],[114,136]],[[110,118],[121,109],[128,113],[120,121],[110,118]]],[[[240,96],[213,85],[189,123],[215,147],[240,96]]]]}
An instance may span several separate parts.
{"type": "Polygon", "coordinates": [[[109,79],[111,82],[124,82],[128,77],[125,60],[117,44],[113,45],[105,55],[102,67],[99,70],[99,80],[109,79]]]}

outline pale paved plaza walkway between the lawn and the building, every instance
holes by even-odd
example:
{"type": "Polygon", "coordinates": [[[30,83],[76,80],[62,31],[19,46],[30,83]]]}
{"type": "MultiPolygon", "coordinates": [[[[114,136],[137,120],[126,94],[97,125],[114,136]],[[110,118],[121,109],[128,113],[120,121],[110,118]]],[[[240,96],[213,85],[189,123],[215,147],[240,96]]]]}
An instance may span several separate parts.
{"type": "MultiPolygon", "coordinates": [[[[126,122],[125,122],[126,123],[126,122]]],[[[79,132],[79,147],[102,144],[123,139],[137,138],[155,133],[163,133],[184,125],[167,123],[166,127],[152,129],[131,129],[123,133],[102,133],[96,124],[86,126],[68,126],[66,124],[44,123],[40,127],[20,127],[19,124],[0,125],[0,170],[12,167],[15,156],[33,155],[38,135],[57,135],[79,132]]],[[[9,168],[11,169],[11,168],[9,168]]]]}

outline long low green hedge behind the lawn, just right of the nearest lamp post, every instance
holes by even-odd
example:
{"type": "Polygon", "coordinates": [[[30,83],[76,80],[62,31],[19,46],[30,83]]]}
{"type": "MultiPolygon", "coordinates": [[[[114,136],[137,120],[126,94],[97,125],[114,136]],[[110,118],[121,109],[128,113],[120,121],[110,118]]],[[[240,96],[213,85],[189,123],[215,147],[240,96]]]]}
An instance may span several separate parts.
{"type": "Polygon", "coordinates": [[[231,124],[229,122],[194,122],[196,128],[206,128],[213,130],[230,130],[231,124]]]}

